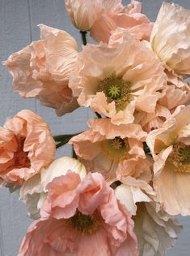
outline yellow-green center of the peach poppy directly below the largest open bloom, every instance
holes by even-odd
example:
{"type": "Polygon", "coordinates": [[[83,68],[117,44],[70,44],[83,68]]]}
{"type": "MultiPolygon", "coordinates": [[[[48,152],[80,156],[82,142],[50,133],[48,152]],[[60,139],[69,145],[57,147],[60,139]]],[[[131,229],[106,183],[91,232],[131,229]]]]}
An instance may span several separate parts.
{"type": "Polygon", "coordinates": [[[104,140],[102,142],[102,150],[103,154],[113,161],[119,162],[129,158],[129,144],[120,137],[104,140]]]}

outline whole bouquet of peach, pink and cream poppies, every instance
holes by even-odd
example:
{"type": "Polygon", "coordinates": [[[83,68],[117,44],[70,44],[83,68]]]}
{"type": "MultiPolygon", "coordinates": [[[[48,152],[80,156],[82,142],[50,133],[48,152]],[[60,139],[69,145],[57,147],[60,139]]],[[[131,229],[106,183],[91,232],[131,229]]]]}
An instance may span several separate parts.
{"type": "Polygon", "coordinates": [[[163,2],[153,23],[134,0],[65,7],[82,51],[40,24],[4,62],[21,97],[95,114],[78,134],[53,136],[29,110],[0,128],[0,183],[35,219],[18,256],[163,256],[190,215],[190,11],[163,2]],[[73,157],[55,158],[66,143],[73,157]]]}

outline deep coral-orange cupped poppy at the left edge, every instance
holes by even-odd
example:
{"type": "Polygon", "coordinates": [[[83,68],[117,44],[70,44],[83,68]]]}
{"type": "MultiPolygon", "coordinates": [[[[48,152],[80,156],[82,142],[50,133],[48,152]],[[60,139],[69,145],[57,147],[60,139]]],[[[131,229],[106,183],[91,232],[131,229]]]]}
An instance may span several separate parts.
{"type": "Polygon", "coordinates": [[[0,128],[0,178],[4,184],[23,183],[48,165],[55,141],[48,124],[32,111],[20,111],[0,128]]]}

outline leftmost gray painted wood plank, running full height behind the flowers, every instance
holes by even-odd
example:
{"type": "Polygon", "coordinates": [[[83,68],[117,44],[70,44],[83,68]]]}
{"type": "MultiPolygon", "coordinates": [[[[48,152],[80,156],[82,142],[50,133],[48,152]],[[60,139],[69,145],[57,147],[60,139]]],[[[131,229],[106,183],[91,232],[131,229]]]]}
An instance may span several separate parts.
{"type": "MultiPolygon", "coordinates": [[[[25,0],[0,1],[0,60],[26,46],[31,41],[28,5],[25,0]]],[[[6,67],[0,66],[1,101],[0,124],[7,117],[28,108],[35,111],[35,100],[24,100],[12,92],[12,78],[6,67]]],[[[23,204],[18,196],[10,195],[7,189],[0,191],[0,244],[2,256],[13,256],[17,253],[23,235],[26,232],[28,220],[23,204]]]]}

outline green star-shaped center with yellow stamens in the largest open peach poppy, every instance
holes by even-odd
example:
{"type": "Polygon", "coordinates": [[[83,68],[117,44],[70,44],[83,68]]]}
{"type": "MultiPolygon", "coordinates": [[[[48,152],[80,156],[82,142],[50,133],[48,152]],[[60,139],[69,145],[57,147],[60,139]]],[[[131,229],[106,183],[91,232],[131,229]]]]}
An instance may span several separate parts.
{"type": "Polygon", "coordinates": [[[98,92],[105,93],[107,101],[115,102],[116,110],[124,110],[125,106],[130,102],[130,87],[129,82],[125,82],[121,77],[112,75],[100,81],[98,92]]]}

